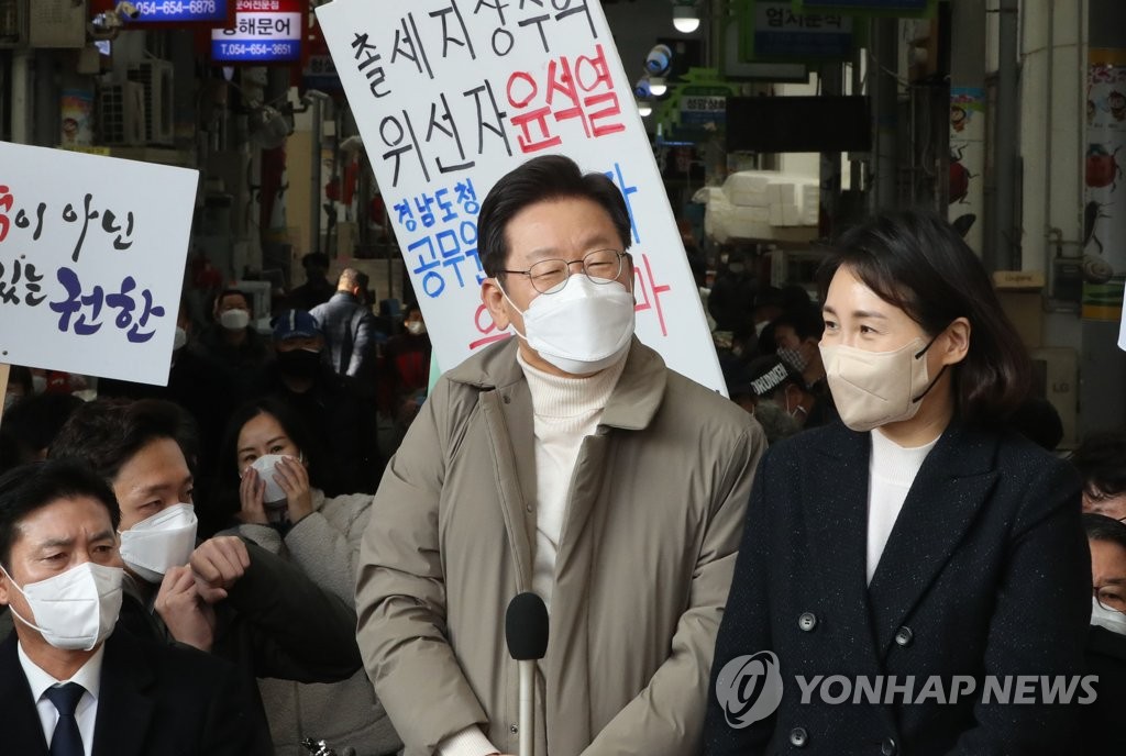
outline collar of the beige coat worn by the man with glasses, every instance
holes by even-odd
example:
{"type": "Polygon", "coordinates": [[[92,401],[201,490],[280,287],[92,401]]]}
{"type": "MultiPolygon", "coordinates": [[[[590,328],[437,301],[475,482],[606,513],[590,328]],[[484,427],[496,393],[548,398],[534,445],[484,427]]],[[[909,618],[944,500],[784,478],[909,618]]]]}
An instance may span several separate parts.
{"type": "MultiPolygon", "coordinates": [[[[483,349],[446,376],[454,382],[484,390],[503,390],[526,382],[516,361],[517,339],[506,339],[483,349]]],[[[647,428],[664,398],[667,382],[664,360],[634,336],[622,377],[602,413],[602,425],[628,431],[647,428]]]]}

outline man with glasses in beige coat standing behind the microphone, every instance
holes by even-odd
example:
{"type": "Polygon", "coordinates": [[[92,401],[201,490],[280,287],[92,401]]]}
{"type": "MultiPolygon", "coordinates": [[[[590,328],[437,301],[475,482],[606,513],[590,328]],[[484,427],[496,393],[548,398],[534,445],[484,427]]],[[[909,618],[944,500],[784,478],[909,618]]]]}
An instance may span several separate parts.
{"type": "Polygon", "coordinates": [[[750,415],[633,335],[625,201],[534,159],[485,198],[482,299],[516,338],[439,381],[360,550],[368,675],[406,756],[515,753],[504,612],[549,612],[537,756],[699,747],[751,477],[750,415]]]}

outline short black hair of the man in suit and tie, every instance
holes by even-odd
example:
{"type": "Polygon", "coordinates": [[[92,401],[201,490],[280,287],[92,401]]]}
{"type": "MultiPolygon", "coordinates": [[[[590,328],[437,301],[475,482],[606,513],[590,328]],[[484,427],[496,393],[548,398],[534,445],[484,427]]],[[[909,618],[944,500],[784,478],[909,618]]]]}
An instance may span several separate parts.
{"type": "Polygon", "coordinates": [[[0,476],[0,564],[10,566],[19,524],[33,512],[61,498],[87,496],[105,505],[117,530],[122,514],[104,479],[75,460],[20,465],[0,476]]]}

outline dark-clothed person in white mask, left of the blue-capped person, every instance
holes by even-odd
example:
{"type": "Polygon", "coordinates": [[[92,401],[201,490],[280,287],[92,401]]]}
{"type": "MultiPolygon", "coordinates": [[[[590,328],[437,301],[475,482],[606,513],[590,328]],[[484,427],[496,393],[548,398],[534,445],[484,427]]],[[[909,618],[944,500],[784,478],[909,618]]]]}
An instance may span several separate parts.
{"type": "Polygon", "coordinates": [[[189,344],[211,367],[227,392],[244,396],[249,381],[271,359],[269,343],[252,325],[250,299],[240,289],[225,289],[215,298],[214,323],[189,344]]]}

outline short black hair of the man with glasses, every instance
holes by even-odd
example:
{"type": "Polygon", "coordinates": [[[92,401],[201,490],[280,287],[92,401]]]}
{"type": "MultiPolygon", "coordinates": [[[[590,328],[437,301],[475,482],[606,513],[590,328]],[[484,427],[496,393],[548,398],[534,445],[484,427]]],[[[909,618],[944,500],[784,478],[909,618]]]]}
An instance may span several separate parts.
{"type": "Polygon", "coordinates": [[[610,216],[622,251],[629,249],[629,209],[614,181],[605,173],[583,173],[563,155],[533,158],[493,184],[477,216],[477,253],[485,276],[495,277],[508,267],[508,224],[524,208],[554,199],[589,199],[610,216]]]}

